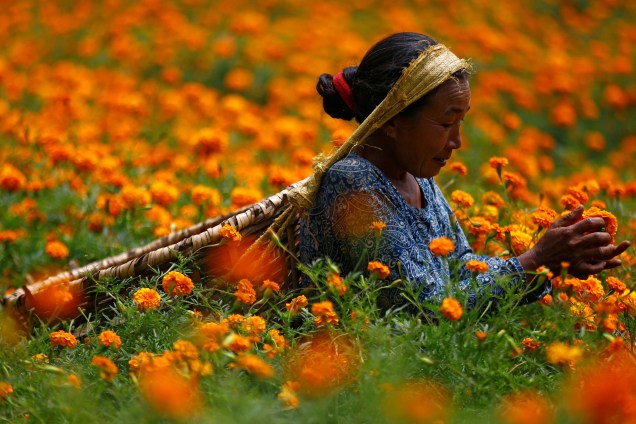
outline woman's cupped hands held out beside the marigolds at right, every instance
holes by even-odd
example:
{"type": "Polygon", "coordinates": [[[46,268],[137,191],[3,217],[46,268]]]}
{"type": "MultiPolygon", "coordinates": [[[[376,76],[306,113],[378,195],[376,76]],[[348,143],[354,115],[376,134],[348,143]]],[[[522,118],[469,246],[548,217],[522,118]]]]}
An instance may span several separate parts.
{"type": "Polygon", "coordinates": [[[532,249],[519,255],[523,269],[533,272],[544,265],[559,275],[561,264],[567,262],[570,264],[570,274],[587,278],[590,274],[620,266],[621,260],[616,256],[631,243],[624,241],[618,245],[611,244],[612,237],[601,230],[605,226],[603,218],[580,220],[582,215],[583,206],[579,206],[554,221],[532,249]]]}

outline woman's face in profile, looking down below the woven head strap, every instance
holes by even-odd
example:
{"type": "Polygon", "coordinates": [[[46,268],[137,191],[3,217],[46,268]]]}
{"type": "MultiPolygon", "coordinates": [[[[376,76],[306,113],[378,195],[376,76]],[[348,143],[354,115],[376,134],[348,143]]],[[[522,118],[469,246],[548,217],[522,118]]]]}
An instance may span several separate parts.
{"type": "Polygon", "coordinates": [[[470,85],[466,79],[448,80],[427,104],[410,115],[394,118],[394,165],[418,178],[439,173],[453,150],[462,144],[459,128],[470,109],[470,85]]]}

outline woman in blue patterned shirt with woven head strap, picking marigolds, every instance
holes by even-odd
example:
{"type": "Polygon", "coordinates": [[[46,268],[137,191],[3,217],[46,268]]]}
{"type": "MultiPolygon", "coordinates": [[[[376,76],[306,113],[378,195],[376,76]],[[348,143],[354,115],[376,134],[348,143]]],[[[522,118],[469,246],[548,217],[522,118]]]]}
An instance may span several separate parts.
{"type": "MultiPolygon", "coordinates": [[[[561,263],[569,262],[569,272],[581,276],[620,265],[616,256],[629,243],[611,244],[611,236],[601,231],[602,218],[580,220],[582,207],[558,219],[518,257],[472,252],[433,179],[461,147],[460,125],[470,110],[469,73],[465,61],[430,37],[398,33],[373,46],[358,67],[320,76],[317,90],[325,111],[361,125],[348,155],[324,167],[312,196],[301,224],[304,263],[328,256],[347,273],[364,271],[376,259],[390,268],[389,278],[414,284],[420,300],[445,295],[452,279],[468,292],[469,304],[485,287],[498,294],[508,285],[528,294],[530,273],[541,265],[559,273],[561,263]],[[417,90],[421,96],[414,94],[417,90]],[[374,222],[386,227],[380,231],[382,225],[374,222]],[[371,230],[374,225],[377,230],[371,230]],[[454,242],[449,258],[429,249],[440,237],[454,242]],[[489,269],[477,277],[476,289],[465,267],[449,265],[471,259],[486,262],[489,269]]],[[[541,287],[526,298],[536,300],[549,289],[541,287]]]]}

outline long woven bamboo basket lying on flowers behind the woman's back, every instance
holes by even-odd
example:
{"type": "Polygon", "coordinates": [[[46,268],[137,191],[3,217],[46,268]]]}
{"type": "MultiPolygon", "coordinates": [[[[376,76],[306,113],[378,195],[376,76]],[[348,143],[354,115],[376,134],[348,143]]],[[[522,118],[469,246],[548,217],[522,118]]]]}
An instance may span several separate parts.
{"type": "Polygon", "coordinates": [[[277,277],[284,279],[281,281],[282,288],[293,288],[298,281],[296,271],[298,214],[293,213],[289,207],[288,195],[302,183],[303,181],[299,181],[258,203],[226,215],[210,218],[125,253],[25,285],[3,297],[3,308],[18,313],[24,319],[34,316],[41,319],[39,315],[46,316],[52,311],[36,310],[34,306],[36,306],[38,294],[45,293],[47,288],[56,284],[65,284],[68,285],[69,292],[82,293],[82,297],[77,308],[74,308],[73,314],[64,316],[64,319],[80,318],[80,311],[96,310],[113,301],[111,297],[100,296],[96,294],[97,291],[91,290],[99,282],[106,279],[124,280],[149,275],[157,269],[167,269],[179,257],[190,257],[199,262],[225,262],[226,265],[228,261],[232,261],[234,268],[244,267],[247,261],[251,262],[249,265],[252,267],[263,265],[264,268],[267,268],[266,264],[254,262],[283,261],[285,267],[280,270],[280,273],[284,275],[277,277]],[[227,252],[220,248],[223,246],[223,237],[220,232],[225,224],[232,225],[241,233],[244,240],[251,240],[252,244],[258,243],[265,246],[268,254],[263,254],[261,249],[256,256],[244,255],[245,251],[243,251],[240,257],[237,257],[236,253],[232,257],[227,257],[227,252]],[[270,242],[273,234],[268,232],[275,234],[280,241],[278,244],[285,246],[285,249],[275,248],[275,244],[270,242]]]}

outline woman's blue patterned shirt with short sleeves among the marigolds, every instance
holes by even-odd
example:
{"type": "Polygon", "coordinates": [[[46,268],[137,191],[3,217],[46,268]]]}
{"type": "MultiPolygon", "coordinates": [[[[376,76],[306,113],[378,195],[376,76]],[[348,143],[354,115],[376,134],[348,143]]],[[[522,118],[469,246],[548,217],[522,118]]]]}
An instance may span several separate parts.
{"type": "MultiPolygon", "coordinates": [[[[352,153],[338,161],[325,174],[308,215],[301,220],[301,261],[311,264],[329,257],[347,274],[365,272],[369,261],[378,260],[390,268],[390,280],[402,278],[414,285],[420,301],[439,300],[461,290],[468,294],[471,306],[484,287],[491,294],[501,294],[503,285],[523,286],[526,277],[516,257],[474,254],[435,180],[418,178],[417,182],[422,208],[409,205],[366,159],[352,153]],[[374,221],[386,224],[380,236],[370,229],[374,221]],[[431,240],[439,237],[455,243],[447,258],[429,250],[431,240]],[[473,276],[465,268],[471,259],[486,262],[488,272],[473,276]],[[451,287],[451,281],[458,283],[451,287]]],[[[399,296],[391,296],[391,301],[399,302],[399,296]]]]}

